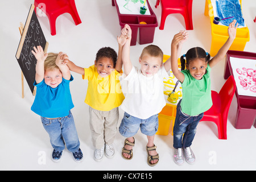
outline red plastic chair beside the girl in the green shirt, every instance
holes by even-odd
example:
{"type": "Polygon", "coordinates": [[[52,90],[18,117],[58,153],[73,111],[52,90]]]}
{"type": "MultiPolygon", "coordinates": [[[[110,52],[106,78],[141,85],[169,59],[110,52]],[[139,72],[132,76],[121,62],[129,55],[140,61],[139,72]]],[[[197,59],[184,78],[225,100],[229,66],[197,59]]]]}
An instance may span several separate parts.
{"type": "Polygon", "coordinates": [[[229,76],[222,86],[220,93],[212,90],[213,105],[208,111],[205,111],[201,121],[212,121],[218,127],[218,139],[227,139],[226,123],[228,120],[229,107],[236,91],[236,82],[234,77],[229,76]]]}

